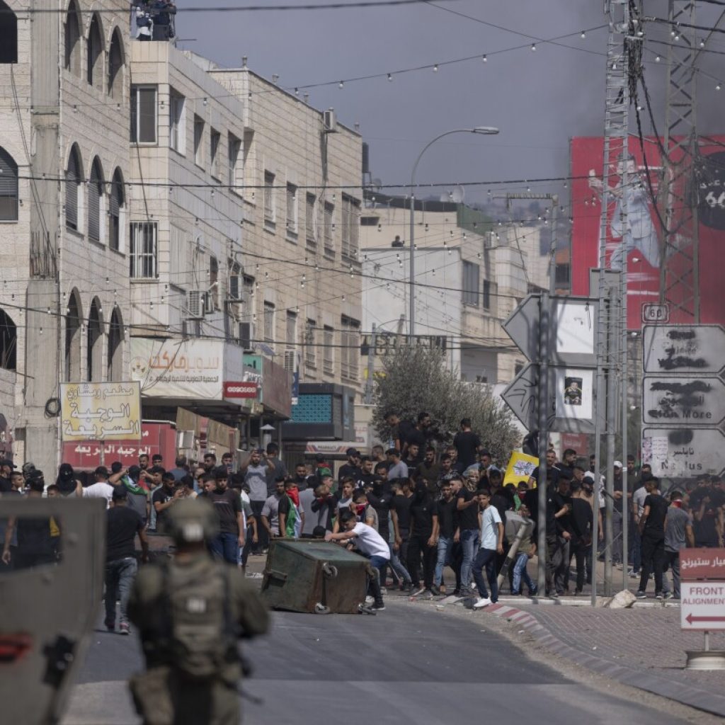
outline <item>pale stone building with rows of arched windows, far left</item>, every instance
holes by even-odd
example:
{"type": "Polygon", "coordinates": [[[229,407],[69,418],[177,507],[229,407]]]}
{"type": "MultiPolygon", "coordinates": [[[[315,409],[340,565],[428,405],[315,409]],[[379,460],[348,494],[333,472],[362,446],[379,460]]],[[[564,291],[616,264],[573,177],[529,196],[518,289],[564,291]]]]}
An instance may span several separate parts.
{"type": "Polygon", "coordinates": [[[59,382],[128,370],[128,3],[0,6],[0,435],[53,479],[59,382]]]}

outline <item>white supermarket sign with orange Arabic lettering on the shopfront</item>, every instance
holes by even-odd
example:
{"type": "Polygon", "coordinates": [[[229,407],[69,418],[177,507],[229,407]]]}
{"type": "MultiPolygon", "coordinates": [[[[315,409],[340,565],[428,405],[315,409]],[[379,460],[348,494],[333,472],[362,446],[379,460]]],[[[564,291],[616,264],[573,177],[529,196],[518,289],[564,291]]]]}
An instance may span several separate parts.
{"type": "Polygon", "coordinates": [[[130,347],[144,397],[222,399],[223,341],[132,337],[130,347]]]}

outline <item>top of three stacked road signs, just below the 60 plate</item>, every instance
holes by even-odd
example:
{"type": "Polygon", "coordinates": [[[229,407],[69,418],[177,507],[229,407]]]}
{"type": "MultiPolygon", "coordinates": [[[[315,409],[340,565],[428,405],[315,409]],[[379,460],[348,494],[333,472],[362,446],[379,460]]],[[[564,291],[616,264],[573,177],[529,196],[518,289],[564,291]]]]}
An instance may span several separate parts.
{"type": "Polygon", "coordinates": [[[725,329],[719,325],[645,325],[645,373],[706,375],[725,366],[725,329]]]}

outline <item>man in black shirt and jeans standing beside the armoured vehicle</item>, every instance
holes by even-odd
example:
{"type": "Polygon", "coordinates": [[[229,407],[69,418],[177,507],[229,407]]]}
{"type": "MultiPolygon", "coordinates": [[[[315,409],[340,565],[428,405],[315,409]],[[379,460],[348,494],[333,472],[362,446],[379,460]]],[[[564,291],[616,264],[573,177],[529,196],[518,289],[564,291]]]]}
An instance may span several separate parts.
{"type": "Polygon", "coordinates": [[[120,621],[118,631],[130,634],[128,626],[128,596],[133,580],[136,579],[135,539],[141,542],[141,561],[149,560],[149,542],[141,516],[128,508],[128,490],[125,486],[114,486],[111,508],[107,510],[106,523],[106,619],[104,624],[110,632],[116,628],[116,601],[120,600],[120,621]]]}

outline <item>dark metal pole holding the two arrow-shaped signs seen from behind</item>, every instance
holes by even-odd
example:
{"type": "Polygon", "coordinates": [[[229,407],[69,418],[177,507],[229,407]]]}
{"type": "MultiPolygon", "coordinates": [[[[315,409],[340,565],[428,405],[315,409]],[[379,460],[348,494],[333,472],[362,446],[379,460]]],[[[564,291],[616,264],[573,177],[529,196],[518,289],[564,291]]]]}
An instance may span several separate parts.
{"type": "Polygon", "coordinates": [[[539,515],[537,517],[537,547],[539,593],[546,591],[546,506],[547,469],[546,452],[549,445],[549,295],[542,292],[539,303],[539,515]]]}

